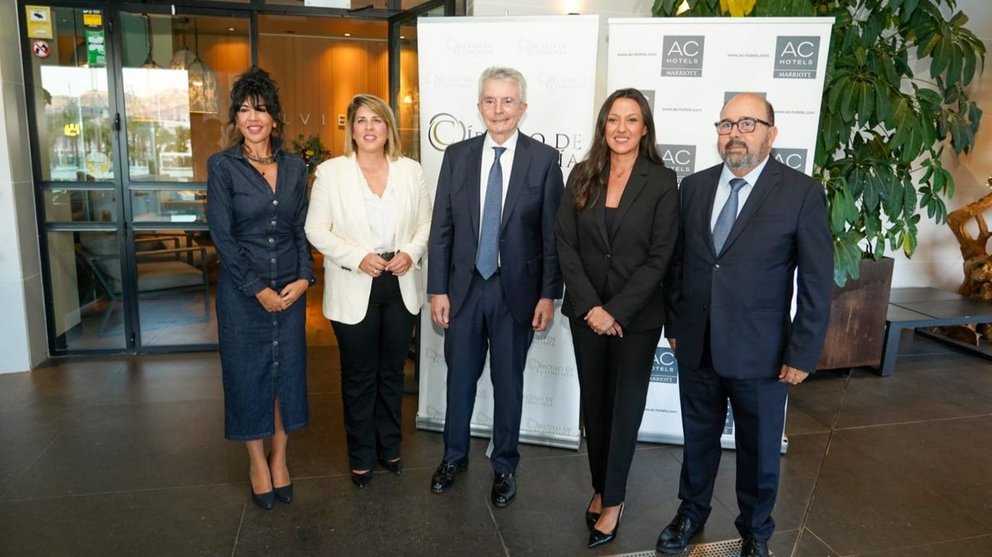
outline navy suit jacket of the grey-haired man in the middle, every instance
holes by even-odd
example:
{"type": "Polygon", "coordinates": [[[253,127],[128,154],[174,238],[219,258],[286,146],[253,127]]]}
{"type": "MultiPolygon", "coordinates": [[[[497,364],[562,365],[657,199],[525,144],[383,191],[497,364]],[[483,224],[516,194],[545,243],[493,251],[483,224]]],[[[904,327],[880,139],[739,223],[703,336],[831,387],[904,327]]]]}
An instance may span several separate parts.
{"type": "MultiPolygon", "coordinates": [[[[468,294],[479,251],[480,135],[444,151],[427,247],[427,292],[447,294],[451,315],[468,294]]],[[[561,298],[555,212],[563,189],[558,151],[522,132],[513,154],[500,228],[500,283],[510,313],[530,323],[540,298],[561,298]]]]}

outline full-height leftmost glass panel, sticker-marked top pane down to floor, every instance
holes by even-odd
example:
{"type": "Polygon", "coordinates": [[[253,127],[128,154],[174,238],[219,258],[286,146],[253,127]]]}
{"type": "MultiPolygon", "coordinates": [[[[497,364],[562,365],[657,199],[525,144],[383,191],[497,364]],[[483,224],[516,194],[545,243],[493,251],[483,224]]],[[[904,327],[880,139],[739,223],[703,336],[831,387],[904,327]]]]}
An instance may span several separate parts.
{"type": "Polygon", "coordinates": [[[108,325],[122,314],[123,266],[104,12],[42,9],[49,13],[50,36],[30,45],[28,95],[49,334],[56,351],[120,350],[124,330],[108,325]]]}

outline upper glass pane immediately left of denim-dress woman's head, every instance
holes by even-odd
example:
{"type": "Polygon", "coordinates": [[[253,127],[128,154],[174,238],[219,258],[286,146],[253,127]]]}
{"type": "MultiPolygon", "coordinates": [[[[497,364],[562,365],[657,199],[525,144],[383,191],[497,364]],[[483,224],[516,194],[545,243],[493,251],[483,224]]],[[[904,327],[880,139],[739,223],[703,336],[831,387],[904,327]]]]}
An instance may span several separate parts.
{"type": "Polygon", "coordinates": [[[250,65],[247,20],[122,13],[121,24],[131,181],[205,182],[227,92],[250,65]]]}

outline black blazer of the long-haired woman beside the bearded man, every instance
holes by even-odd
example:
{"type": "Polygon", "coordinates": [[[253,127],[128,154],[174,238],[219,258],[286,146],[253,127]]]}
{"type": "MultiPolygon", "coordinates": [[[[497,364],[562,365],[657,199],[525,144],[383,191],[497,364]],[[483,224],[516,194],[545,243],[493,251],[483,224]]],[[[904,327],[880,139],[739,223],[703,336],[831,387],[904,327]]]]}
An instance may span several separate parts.
{"type": "Polygon", "coordinates": [[[679,226],[675,173],[638,157],[620,197],[612,237],[604,218],[606,192],[601,190],[590,205],[576,210],[575,176],[573,172],[558,210],[558,259],[565,279],[562,313],[582,319],[593,307],[603,306],[624,330],[661,327],[661,284],[679,226]],[[612,296],[607,298],[607,293],[612,296]]]}

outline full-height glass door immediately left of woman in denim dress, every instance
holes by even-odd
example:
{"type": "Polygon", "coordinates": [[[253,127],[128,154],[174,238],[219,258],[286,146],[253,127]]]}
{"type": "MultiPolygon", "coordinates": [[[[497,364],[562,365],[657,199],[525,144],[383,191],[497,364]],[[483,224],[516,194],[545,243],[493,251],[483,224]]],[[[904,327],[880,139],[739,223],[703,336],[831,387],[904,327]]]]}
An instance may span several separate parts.
{"type": "Polygon", "coordinates": [[[137,339],[216,344],[206,161],[224,146],[222,92],[250,65],[248,20],[122,12],[120,21],[137,339]]]}

